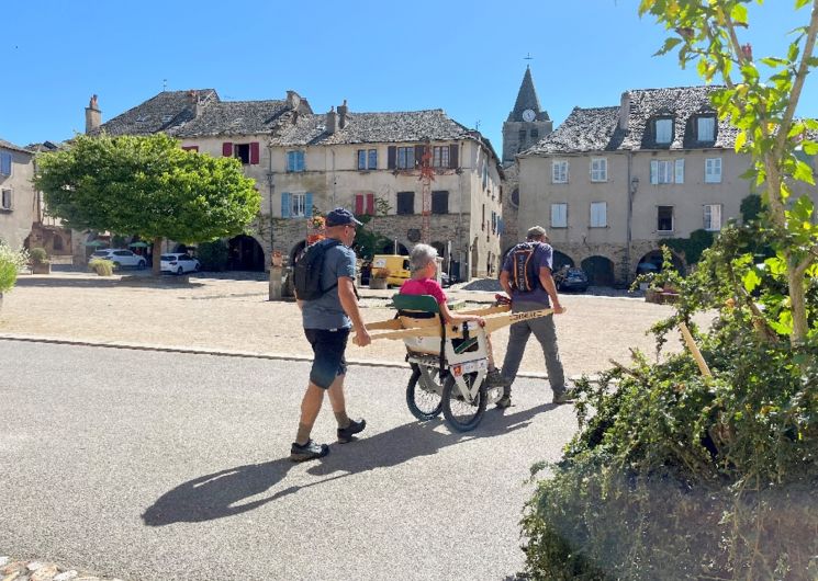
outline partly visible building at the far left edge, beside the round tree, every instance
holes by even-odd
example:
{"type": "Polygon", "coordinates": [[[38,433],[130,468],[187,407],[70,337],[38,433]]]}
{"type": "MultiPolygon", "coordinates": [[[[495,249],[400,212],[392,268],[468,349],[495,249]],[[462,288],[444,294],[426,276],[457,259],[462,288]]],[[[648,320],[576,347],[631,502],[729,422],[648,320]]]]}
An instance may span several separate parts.
{"type": "Polygon", "coordinates": [[[34,152],[0,139],[0,240],[23,248],[35,218],[34,152]]]}

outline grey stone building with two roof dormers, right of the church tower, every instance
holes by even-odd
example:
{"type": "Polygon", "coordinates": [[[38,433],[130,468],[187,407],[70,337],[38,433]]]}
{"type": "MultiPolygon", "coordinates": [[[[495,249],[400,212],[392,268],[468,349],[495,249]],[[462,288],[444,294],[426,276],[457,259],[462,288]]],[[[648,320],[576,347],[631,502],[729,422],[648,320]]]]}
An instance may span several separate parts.
{"type": "MultiPolygon", "coordinates": [[[[750,159],[709,96],[718,87],[626,91],[618,106],[575,107],[518,156],[519,220],[548,229],[556,263],[627,284],[668,238],[718,231],[740,215],[750,159]]],[[[686,266],[684,257],[675,257],[686,266]]]]}

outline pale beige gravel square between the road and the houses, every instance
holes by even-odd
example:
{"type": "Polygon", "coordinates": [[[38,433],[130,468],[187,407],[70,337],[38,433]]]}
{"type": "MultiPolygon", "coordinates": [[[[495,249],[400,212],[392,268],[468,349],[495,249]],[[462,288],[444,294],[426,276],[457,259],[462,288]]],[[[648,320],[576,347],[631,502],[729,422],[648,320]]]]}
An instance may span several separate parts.
{"type": "MultiPolygon", "coordinates": [[[[111,277],[76,272],[21,275],[18,286],[4,296],[0,334],[265,354],[309,353],[298,306],[269,301],[267,282],[205,276],[191,277],[188,284],[176,281],[165,276],[157,282],[145,273],[111,277]]],[[[394,311],[385,305],[394,293],[362,289],[365,320],[391,319],[394,311]]],[[[489,303],[494,296],[493,290],[457,287],[448,294],[475,303],[489,303]]],[[[564,294],[561,298],[568,311],[557,317],[557,329],[569,376],[607,368],[609,358],[625,363],[629,348],[652,353],[652,337],[645,332],[672,312],[666,305],[648,304],[641,298],[587,294],[564,294]]],[[[699,322],[707,322],[706,318],[699,322]]],[[[498,362],[507,338],[507,328],[492,337],[498,362]]],[[[671,341],[669,349],[676,351],[680,346],[671,341]]],[[[402,342],[388,340],[365,349],[350,343],[347,352],[349,360],[392,363],[402,363],[404,355],[402,342]]],[[[529,343],[520,369],[545,372],[536,342],[529,343]]]]}

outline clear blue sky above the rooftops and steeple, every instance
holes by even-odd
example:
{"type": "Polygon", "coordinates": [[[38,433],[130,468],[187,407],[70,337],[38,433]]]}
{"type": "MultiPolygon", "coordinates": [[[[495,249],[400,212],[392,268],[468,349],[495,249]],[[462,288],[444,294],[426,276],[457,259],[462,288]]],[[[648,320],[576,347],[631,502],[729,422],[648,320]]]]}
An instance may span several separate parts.
{"type": "MultiPolygon", "coordinates": [[[[479,124],[500,151],[529,62],[554,127],[573,106],[618,104],[626,89],[701,82],[675,56],[651,56],[664,35],[638,18],[638,3],[11,2],[0,37],[0,138],[66,139],[83,130],[91,94],[107,121],[167,82],[213,88],[224,100],[283,99],[293,89],[316,113],[344,99],[351,112],[444,109],[479,124]]],[[[786,32],[806,21],[793,4],[751,9],[747,39],[757,57],[784,53],[786,32]]],[[[807,82],[800,115],[818,116],[816,82],[807,82]]]]}

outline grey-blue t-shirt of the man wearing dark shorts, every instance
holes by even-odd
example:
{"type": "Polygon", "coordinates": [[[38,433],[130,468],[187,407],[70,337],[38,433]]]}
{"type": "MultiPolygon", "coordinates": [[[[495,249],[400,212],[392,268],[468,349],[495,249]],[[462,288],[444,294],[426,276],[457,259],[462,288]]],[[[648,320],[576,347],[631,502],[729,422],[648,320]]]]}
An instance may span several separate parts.
{"type": "MultiPolygon", "coordinates": [[[[328,243],[322,240],[320,244],[328,243]]],[[[355,281],[355,251],[337,244],[324,253],[324,271],[321,284],[324,288],[338,282],[339,276],[355,281]]],[[[337,285],[315,300],[305,300],[301,310],[304,329],[343,329],[351,327],[352,321],[340,306],[337,285]]]]}

